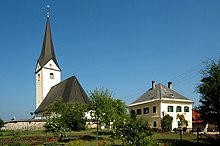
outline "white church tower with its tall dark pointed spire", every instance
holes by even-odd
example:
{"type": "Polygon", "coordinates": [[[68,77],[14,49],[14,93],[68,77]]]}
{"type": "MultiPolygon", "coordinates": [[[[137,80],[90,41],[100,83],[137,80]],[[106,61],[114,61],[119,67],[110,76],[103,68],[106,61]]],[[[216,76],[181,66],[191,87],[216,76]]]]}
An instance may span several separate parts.
{"type": "Polygon", "coordinates": [[[60,83],[61,69],[58,65],[52,35],[50,30],[50,18],[47,15],[46,30],[44,34],[43,46],[41,54],[38,58],[36,69],[36,109],[41,104],[43,99],[52,86],[60,83]]]}

